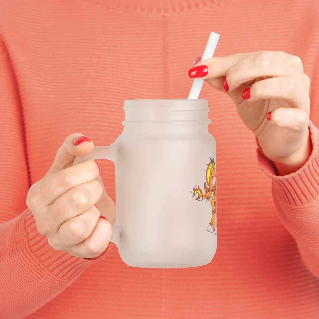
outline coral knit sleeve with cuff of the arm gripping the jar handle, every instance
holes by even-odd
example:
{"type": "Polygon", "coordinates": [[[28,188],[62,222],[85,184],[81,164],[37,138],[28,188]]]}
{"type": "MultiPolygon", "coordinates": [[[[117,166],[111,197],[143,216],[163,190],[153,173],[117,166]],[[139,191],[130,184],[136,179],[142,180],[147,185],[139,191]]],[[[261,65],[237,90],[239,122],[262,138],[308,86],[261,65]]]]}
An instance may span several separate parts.
{"type": "Polygon", "coordinates": [[[23,114],[10,56],[0,42],[0,317],[22,318],[69,286],[90,264],[52,249],[26,207],[23,114]]]}

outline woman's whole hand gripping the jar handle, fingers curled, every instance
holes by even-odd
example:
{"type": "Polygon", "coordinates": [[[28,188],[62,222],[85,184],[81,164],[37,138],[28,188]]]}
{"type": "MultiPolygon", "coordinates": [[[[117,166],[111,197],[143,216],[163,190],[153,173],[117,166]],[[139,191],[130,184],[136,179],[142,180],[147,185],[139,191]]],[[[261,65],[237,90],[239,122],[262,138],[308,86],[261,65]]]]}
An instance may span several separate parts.
{"type": "Polygon", "coordinates": [[[93,147],[81,134],[69,135],[26,199],[50,246],[83,258],[97,257],[108,247],[115,222],[115,204],[106,193],[99,167],[93,160],[73,166],[77,156],[89,154],[93,147]],[[100,218],[100,211],[108,220],[100,218]]]}

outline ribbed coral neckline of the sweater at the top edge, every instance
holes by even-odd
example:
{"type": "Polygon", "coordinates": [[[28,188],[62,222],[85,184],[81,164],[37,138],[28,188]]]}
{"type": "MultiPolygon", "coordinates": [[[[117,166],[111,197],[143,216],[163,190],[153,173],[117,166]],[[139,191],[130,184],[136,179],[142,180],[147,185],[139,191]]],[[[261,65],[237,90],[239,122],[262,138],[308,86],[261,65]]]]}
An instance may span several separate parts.
{"type": "Polygon", "coordinates": [[[218,4],[220,0],[102,0],[101,2],[108,9],[169,14],[202,9],[211,4],[218,4]]]}

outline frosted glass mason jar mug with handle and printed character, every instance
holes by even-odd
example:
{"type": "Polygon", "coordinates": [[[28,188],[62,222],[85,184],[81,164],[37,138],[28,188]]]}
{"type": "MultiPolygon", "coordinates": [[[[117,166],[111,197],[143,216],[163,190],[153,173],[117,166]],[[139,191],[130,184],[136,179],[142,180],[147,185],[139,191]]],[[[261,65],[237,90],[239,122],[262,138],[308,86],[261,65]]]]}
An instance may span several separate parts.
{"type": "Polygon", "coordinates": [[[124,101],[122,134],[76,159],[115,164],[111,241],[127,265],[194,267],[213,258],[216,143],[207,105],[202,99],[124,101]]]}

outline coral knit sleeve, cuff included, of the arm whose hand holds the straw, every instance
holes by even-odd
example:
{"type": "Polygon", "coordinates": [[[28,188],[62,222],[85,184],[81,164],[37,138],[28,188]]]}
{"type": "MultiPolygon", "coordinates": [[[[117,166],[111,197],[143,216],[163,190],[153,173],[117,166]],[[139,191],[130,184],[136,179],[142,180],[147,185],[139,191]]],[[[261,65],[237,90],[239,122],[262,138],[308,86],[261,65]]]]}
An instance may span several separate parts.
{"type": "Polygon", "coordinates": [[[260,147],[259,164],[272,179],[272,196],[283,224],[297,242],[305,265],[319,278],[319,131],[309,126],[313,150],[297,172],[276,176],[260,147]]]}

